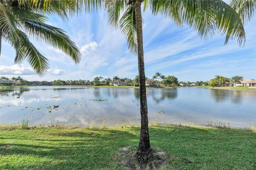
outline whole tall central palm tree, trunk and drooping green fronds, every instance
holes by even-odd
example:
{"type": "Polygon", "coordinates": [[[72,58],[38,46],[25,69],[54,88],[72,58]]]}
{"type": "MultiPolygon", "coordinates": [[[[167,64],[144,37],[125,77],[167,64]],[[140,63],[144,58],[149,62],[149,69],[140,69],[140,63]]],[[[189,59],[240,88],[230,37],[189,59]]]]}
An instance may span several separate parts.
{"type": "MultiPolygon", "coordinates": [[[[35,2],[38,1],[35,0],[35,2]]],[[[30,2],[31,6],[31,1],[20,0],[20,2],[30,2]]],[[[47,0],[46,2],[46,7],[51,4],[47,0]]],[[[61,1],[61,4],[62,2],[66,1],[61,1]]],[[[148,160],[152,156],[148,130],[141,16],[142,3],[144,10],[149,8],[154,15],[162,14],[172,19],[178,25],[183,23],[190,25],[191,28],[198,31],[198,34],[203,39],[212,37],[217,31],[222,33],[222,35],[226,35],[225,44],[228,43],[229,38],[236,39],[239,45],[242,45],[245,41],[245,32],[241,18],[239,18],[234,8],[221,0],[74,0],[71,2],[77,4],[77,9],[84,7],[86,12],[105,6],[108,11],[110,25],[121,29],[127,38],[128,48],[138,56],[141,130],[137,158],[141,161],[148,160]]],[[[69,6],[69,3],[66,4],[69,6]]]]}

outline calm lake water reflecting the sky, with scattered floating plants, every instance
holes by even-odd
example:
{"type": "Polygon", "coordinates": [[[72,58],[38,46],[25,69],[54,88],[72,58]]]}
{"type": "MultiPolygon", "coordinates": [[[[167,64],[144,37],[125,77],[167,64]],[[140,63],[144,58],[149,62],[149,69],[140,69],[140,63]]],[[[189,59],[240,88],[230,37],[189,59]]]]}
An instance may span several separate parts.
{"type": "MultiPolygon", "coordinates": [[[[255,91],[147,89],[147,98],[149,121],[160,124],[221,121],[240,128],[256,124],[255,91]]],[[[139,90],[50,86],[0,90],[0,123],[22,119],[29,119],[29,125],[139,124],[139,90]]]]}

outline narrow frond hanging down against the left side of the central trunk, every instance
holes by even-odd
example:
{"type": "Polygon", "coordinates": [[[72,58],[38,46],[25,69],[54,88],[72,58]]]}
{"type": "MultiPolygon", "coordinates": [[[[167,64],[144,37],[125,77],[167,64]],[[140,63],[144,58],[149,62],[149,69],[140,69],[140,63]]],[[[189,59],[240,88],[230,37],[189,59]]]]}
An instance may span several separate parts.
{"type": "Polygon", "coordinates": [[[127,38],[127,45],[131,53],[137,53],[137,29],[135,8],[130,5],[119,21],[119,27],[127,38]]]}

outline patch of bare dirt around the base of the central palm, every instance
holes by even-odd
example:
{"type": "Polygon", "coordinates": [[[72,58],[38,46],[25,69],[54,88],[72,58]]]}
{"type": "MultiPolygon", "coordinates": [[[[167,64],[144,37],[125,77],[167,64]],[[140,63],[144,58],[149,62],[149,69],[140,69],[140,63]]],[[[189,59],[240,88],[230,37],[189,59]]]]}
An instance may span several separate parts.
{"type": "Polygon", "coordinates": [[[124,166],[131,170],[151,170],[158,169],[167,163],[167,157],[163,151],[153,150],[153,158],[147,163],[139,163],[135,157],[136,149],[123,147],[117,153],[117,159],[124,166]]]}

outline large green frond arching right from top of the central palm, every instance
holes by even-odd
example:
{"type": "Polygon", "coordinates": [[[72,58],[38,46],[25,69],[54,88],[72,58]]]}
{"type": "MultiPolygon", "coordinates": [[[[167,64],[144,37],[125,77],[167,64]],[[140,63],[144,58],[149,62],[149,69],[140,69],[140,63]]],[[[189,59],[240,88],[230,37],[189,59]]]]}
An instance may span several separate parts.
{"type": "Polygon", "coordinates": [[[245,41],[241,19],[232,7],[221,0],[151,0],[149,7],[153,14],[163,14],[176,23],[190,25],[202,38],[207,39],[218,31],[226,34],[225,44],[229,38],[237,39],[239,45],[245,41]]]}

